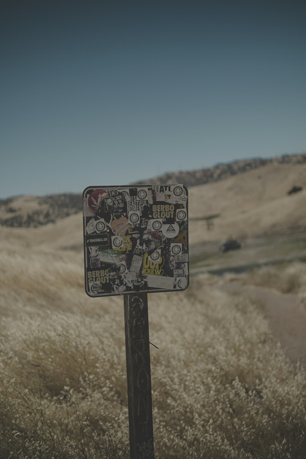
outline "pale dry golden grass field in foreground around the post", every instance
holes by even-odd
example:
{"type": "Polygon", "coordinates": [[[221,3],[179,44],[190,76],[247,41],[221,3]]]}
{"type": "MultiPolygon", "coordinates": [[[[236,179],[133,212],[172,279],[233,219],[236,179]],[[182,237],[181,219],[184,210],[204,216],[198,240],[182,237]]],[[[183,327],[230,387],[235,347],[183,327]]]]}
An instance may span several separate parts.
{"type": "MultiPolygon", "coordinates": [[[[0,250],[0,457],[128,458],[122,297],[85,295],[80,252],[0,250]]],[[[282,273],[303,293],[305,271],[294,287],[282,273]]],[[[305,458],[304,369],[215,283],[149,295],[156,458],[305,458]]]]}

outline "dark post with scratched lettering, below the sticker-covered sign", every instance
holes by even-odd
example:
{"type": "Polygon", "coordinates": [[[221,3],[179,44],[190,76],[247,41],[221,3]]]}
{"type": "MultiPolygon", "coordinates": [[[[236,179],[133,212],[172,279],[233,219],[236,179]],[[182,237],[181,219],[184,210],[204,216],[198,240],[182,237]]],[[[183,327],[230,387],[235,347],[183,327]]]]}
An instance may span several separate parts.
{"type": "Polygon", "coordinates": [[[131,459],[154,459],[153,416],[146,293],[124,296],[131,459]]]}

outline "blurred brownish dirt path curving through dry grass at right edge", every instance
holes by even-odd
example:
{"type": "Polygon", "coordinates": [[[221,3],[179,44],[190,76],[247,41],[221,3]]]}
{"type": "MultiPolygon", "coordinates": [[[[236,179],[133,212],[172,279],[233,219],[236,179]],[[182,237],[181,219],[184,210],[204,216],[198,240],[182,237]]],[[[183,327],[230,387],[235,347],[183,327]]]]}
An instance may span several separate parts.
{"type": "Polygon", "coordinates": [[[269,322],[271,333],[281,343],[286,355],[294,363],[306,368],[306,310],[297,295],[282,294],[276,290],[243,285],[239,281],[217,286],[230,294],[243,293],[260,303],[269,322]]]}

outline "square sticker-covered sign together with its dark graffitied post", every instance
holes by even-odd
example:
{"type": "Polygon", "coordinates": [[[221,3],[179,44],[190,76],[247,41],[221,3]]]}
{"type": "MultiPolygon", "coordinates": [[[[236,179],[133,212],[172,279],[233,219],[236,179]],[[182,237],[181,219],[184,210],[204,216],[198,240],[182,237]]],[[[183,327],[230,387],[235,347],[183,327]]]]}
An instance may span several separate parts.
{"type": "Polygon", "coordinates": [[[154,459],[147,293],[188,287],[188,190],[89,186],[83,235],[87,295],[124,295],[130,456],[154,459]]]}

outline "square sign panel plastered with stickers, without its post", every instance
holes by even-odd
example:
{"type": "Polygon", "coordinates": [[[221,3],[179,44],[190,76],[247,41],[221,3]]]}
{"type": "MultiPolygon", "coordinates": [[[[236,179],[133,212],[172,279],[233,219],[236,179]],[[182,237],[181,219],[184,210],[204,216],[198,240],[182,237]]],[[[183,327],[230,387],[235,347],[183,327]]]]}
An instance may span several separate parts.
{"type": "Polygon", "coordinates": [[[89,186],[83,191],[83,221],[90,297],[188,287],[184,185],[89,186]]]}

